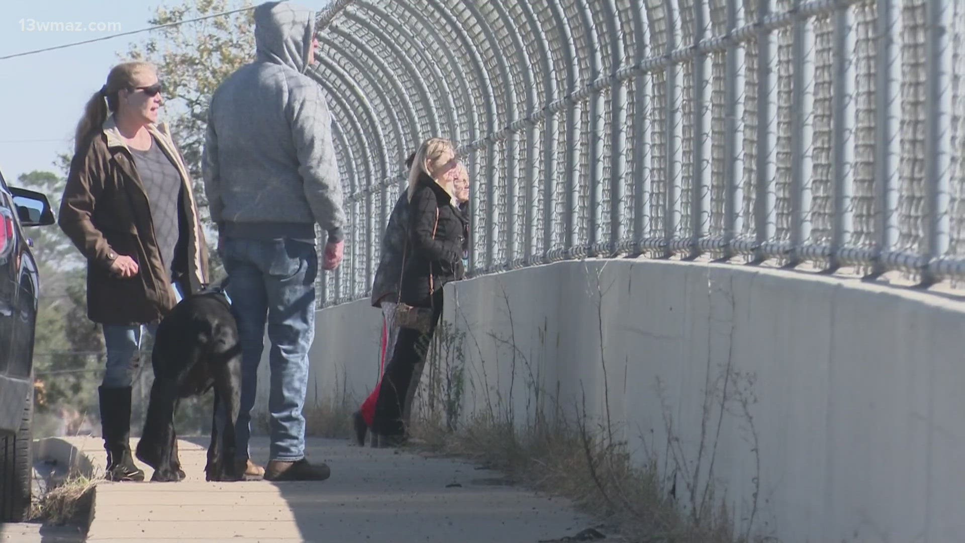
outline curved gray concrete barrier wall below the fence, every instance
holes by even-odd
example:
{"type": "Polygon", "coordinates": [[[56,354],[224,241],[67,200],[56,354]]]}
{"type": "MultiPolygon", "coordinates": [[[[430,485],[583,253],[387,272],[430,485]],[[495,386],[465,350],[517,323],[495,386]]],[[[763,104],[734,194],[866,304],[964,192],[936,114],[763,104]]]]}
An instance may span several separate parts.
{"type": "MultiPolygon", "coordinates": [[[[631,260],[447,289],[463,416],[511,406],[522,425],[539,405],[567,416],[585,405],[677,488],[698,458],[703,484],[712,457],[737,523],[753,512],[757,533],[783,541],[965,540],[965,303],[631,260]]],[[[319,311],[309,403],[368,393],[380,318],[368,300],[319,311]]]]}

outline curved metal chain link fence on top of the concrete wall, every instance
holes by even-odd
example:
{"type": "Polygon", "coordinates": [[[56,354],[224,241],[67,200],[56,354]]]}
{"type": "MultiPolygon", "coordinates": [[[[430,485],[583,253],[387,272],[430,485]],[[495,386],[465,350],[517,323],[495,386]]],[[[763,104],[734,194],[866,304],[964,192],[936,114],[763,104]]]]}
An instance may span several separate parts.
{"type": "Polygon", "coordinates": [[[957,0],[339,0],[310,75],[368,296],[425,138],[472,179],[470,273],[708,257],[965,275],[957,0]]]}

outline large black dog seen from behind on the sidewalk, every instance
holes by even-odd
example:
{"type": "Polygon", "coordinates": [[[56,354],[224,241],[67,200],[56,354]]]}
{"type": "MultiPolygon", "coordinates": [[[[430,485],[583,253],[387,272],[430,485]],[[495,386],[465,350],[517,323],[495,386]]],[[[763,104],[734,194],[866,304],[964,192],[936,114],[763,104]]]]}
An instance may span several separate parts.
{"type": "Polygon", "coordinates": [[[152,366],[151,400],[137,443],[137,458],[154,469],[151,480],[184,478],[174,427],[178,400],[212,387],[215,409],[221,402],[229,419],[220,439],[217,425],[211,426],[206,479],[239,480],[234,466],[234,424],[241,399],[241,346],[231,302],[223,291],[202,291],[172,309],[157,327],[152,366]]]}

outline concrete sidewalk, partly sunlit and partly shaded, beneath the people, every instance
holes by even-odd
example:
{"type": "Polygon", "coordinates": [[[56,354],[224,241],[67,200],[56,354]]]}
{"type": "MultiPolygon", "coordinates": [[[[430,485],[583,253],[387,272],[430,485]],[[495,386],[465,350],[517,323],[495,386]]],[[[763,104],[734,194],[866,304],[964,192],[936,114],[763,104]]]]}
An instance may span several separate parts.
{"type": "MultiPolygon", "coordinates": [[[[593,526],[498,472],[342,440],[309,441],[309,459],[332,468],[326,481],[207,483],[207,438],[192,441],[179,443],[184,481],[100,483],[88,541],[538,543],[593,526]]],[[[102,472],[98,440],[76,445],[102,472]]],[[[264,439],[252,457],[267,457],[264,439]]]]}

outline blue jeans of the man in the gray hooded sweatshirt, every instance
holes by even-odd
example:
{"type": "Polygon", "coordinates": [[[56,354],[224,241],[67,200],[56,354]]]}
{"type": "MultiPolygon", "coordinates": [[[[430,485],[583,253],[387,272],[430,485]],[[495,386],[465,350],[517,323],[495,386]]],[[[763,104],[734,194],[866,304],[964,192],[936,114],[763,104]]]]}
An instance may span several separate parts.
{"type": "MultiPolygon", "coordinates": [[[[291,239],[232,239],[219,247],[228,296],[241,341],[241,409],[236,432],[236,459],[249,457],[251,410],[258,390],[258,366],[267,325],[271,381],[269,460],[305,457],[305,393],[309,348],[315,338],[315,243],[291,239]]],[[[219,406],[218,424],[224,424],[219,406]]]]}

